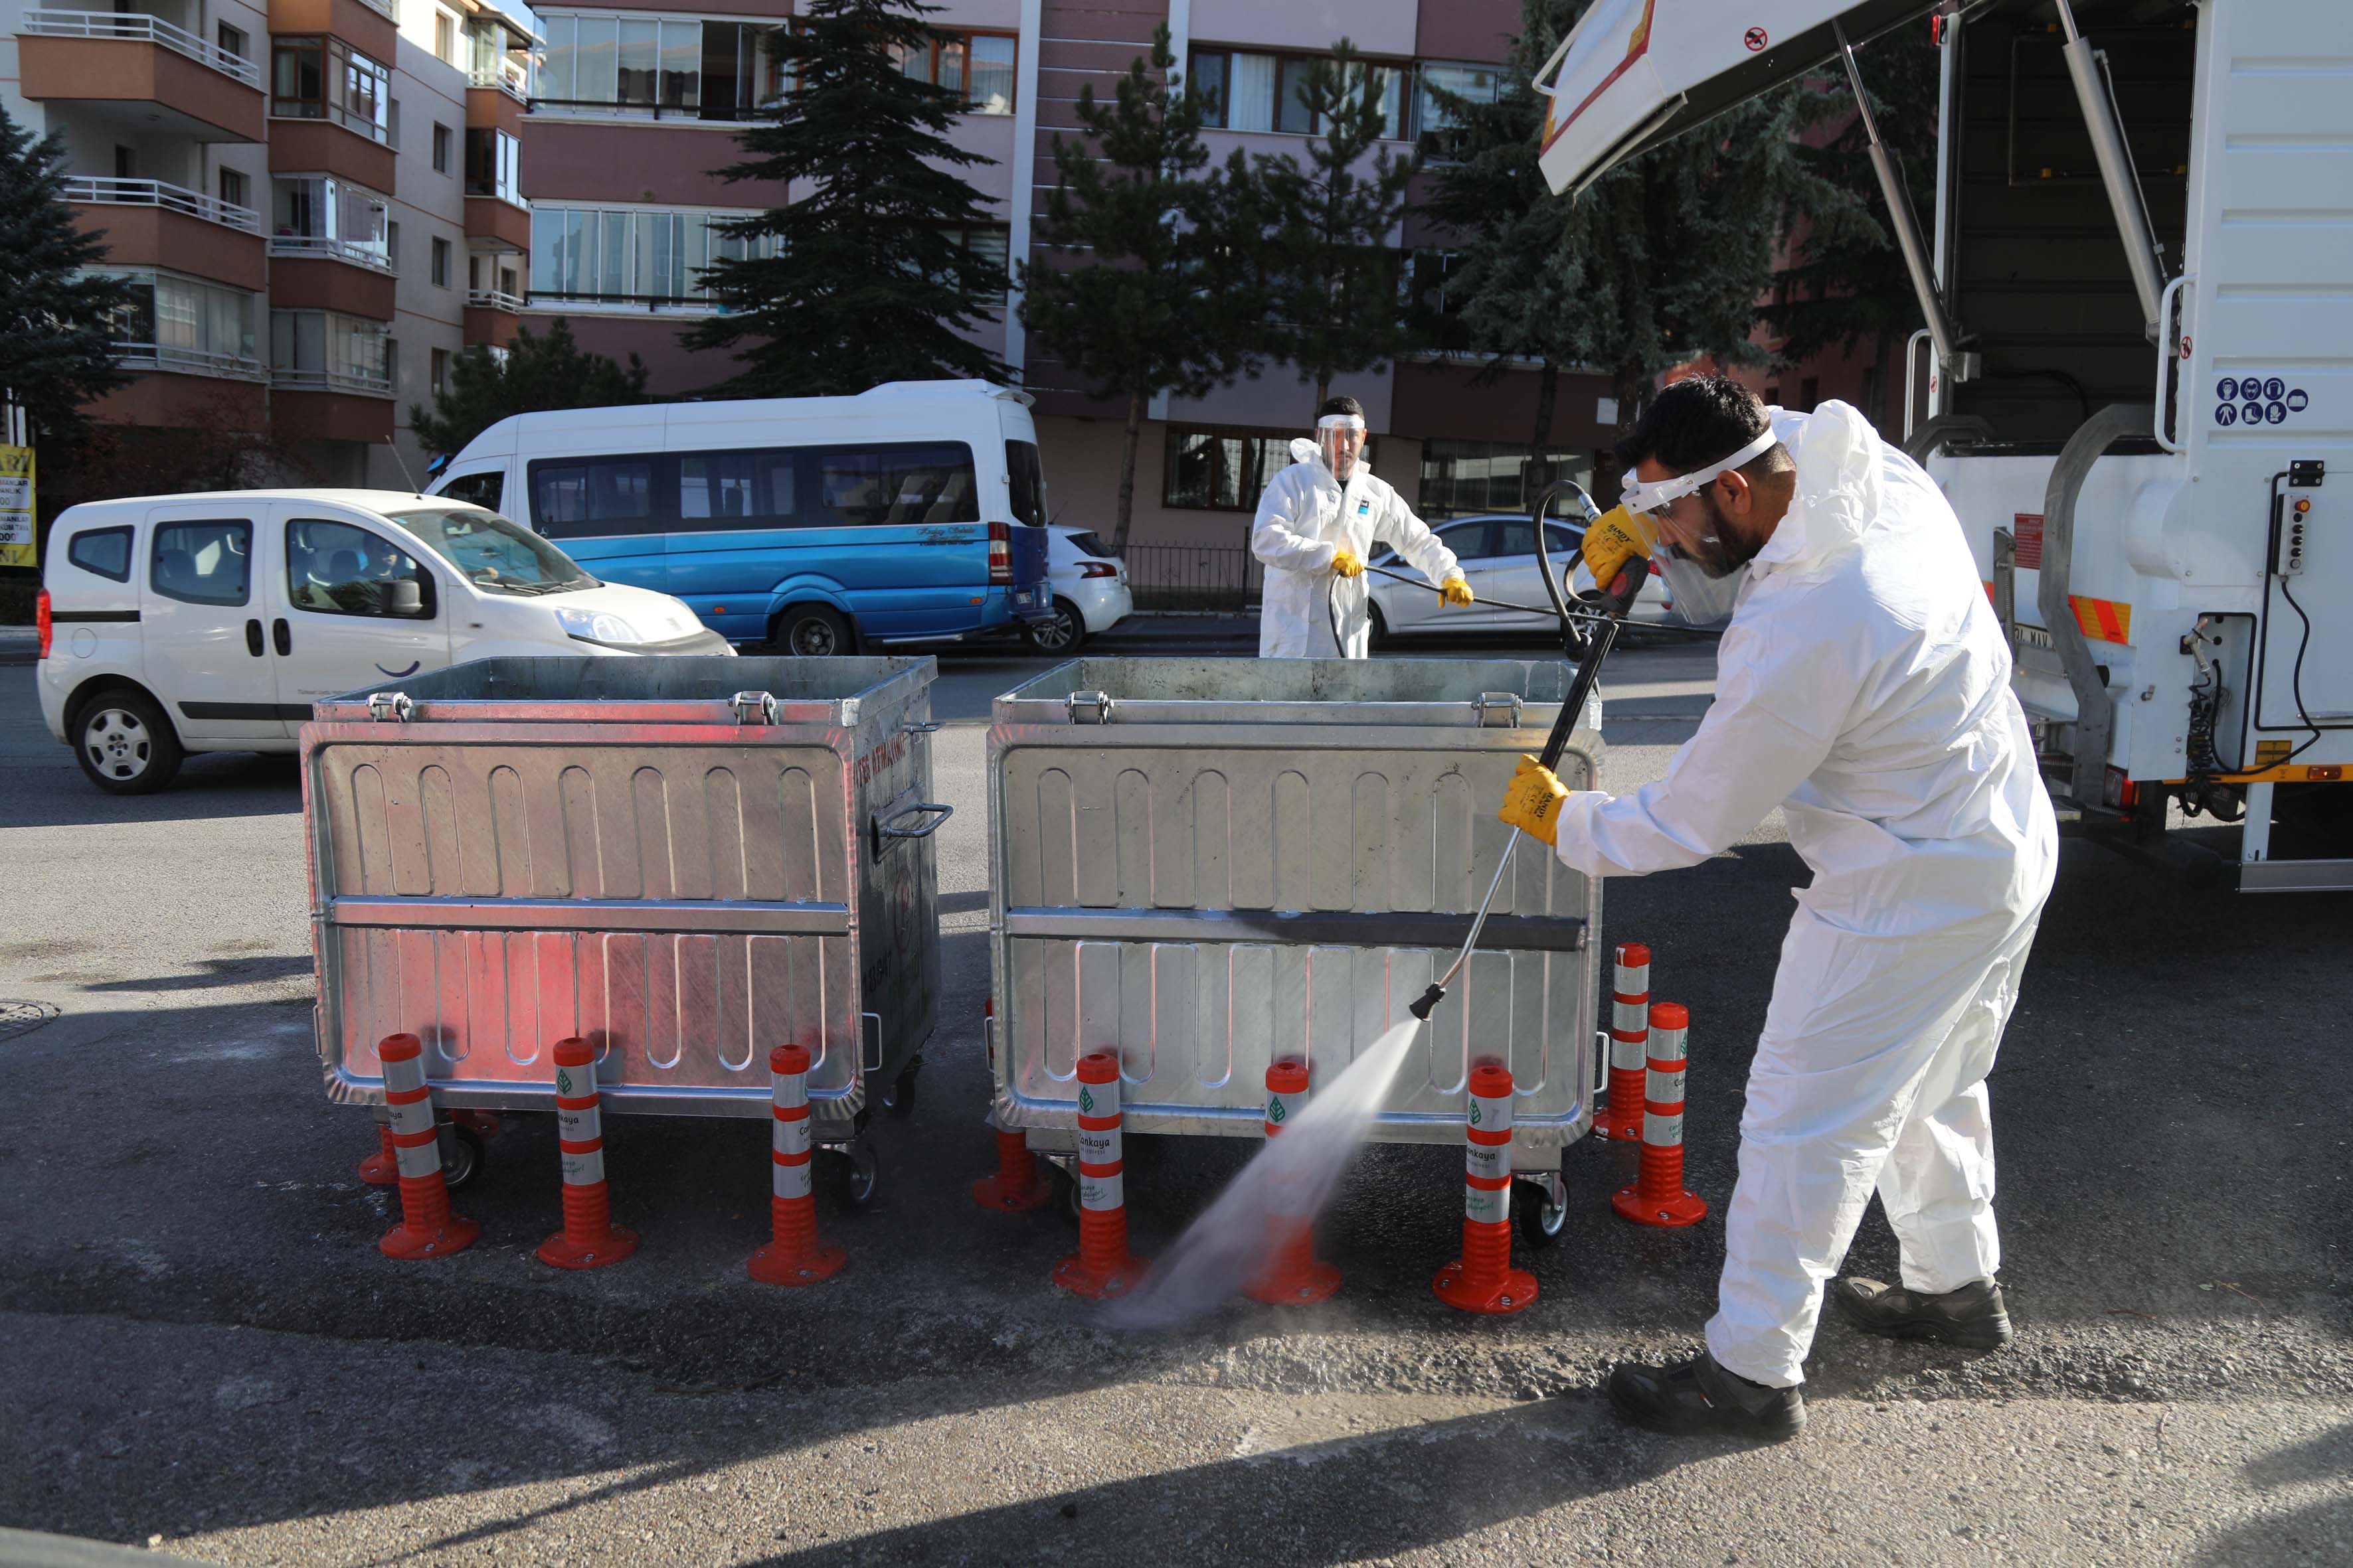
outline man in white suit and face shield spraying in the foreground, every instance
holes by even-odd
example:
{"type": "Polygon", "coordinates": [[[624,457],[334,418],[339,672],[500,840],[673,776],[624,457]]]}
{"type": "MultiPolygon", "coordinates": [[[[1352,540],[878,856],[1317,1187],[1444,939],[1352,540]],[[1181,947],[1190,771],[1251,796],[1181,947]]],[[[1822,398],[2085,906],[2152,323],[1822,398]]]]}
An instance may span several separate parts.
{"type": "Polygon", "coordinates": [[[1828,1284],[1842,1314],[2009,1340],[1986,1072],[2059,830],[1960,522],[1861,414],[1769,414],[1732,381],[1678,381],[1619,456],[1635,482],[1588,564],[1607,583],[1654,555],[1678,609],[1732,585],[1715,703],[1657,783],[1569,795],[1522,762],[1501,816],[1588,877],[1640,877],[1781,806],[1814,867],[1748,1072],[1708,1347],[1609,1373],[1638,1425],[1781,1439],[1805,1425],[1824,1286],[1873,1192],[1901,1284],[1828,1284]]]}

